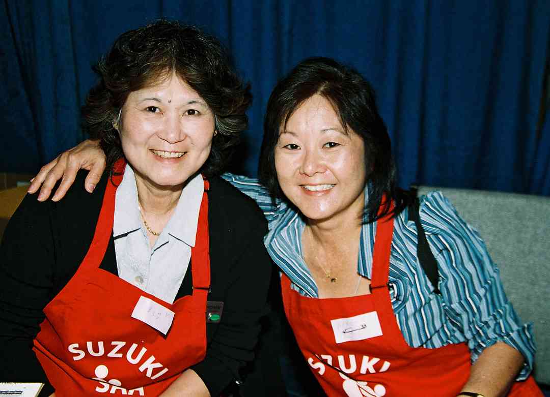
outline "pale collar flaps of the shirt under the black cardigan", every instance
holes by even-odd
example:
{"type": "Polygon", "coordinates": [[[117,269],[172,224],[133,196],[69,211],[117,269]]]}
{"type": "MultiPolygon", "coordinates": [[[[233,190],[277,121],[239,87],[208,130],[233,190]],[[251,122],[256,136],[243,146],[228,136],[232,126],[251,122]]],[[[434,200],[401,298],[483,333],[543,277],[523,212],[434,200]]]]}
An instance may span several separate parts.
{"type": "MultiPolygon", "coordinates": [[[[204,193],[204,182],[202,176],[197,174],[185,184],[178,204],[159,237],[164,235],[167,238],[170,234],[190,247],[195,246],[202,193],[204,193]]],[[[113,236],[115,238],[141,228],[138,188],[136,187],[134,170],[129,164],[126,165],[122,182],[117,188],[114,214],[113,236]]]]}

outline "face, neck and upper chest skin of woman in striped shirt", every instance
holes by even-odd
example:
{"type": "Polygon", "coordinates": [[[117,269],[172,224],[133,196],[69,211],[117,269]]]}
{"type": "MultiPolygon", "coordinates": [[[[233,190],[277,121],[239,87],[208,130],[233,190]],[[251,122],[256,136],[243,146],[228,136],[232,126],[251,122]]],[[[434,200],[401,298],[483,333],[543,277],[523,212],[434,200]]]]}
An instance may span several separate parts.
{"type": "MultiPolygon", "coordinates": [[[[360,228],[352,225],[358,225],[365,209],[365,146],[355,131],[340,123],[331,102],[315,94],[282,125],[274,149],[279,186],[308,220],[302,237],[304,259],[312,265],[322,297],[356,294],[361,281],[354,271],[360,228]],[[331,236],[337,249],[329,250],[319,241],[320,230],[330,230],[331,235],[348,230],[352,235],[331,236]]],[[[368,282],[362,287],[361,292],[367,292],[368,282]]]]}

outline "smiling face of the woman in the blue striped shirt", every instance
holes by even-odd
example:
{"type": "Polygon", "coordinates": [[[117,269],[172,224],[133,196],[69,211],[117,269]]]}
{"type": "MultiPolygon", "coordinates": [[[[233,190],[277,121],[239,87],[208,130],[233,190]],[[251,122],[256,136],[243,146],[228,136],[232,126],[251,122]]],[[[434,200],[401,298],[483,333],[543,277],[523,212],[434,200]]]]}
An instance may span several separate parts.
{"type": "Polygon", "coordinates": [[[279,185],[310,220],[349,224],[364,211],[365,147],[340,122],[332,104],[314,95],[288,118],[275,148],[279,185]]]}

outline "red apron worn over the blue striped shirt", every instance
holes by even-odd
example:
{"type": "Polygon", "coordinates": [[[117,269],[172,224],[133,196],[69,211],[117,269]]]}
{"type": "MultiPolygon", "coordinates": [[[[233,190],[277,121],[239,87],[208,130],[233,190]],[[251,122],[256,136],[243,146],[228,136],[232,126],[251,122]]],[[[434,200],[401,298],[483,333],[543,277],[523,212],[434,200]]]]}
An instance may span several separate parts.
{"type": "MultiPolygon", "coordinates": [[[[387,288],[393,219],[377,222],[372,293],[313,299],[281,278],[283,303],[298,345],[328,396],[455,396],[470,376],[465,343],[411,348],[403,338],[387,288]]],[[[513,396],[542,396],[532,378],[513,396]],[[521,389],[521,390],[520,390],[521,389]]]]}

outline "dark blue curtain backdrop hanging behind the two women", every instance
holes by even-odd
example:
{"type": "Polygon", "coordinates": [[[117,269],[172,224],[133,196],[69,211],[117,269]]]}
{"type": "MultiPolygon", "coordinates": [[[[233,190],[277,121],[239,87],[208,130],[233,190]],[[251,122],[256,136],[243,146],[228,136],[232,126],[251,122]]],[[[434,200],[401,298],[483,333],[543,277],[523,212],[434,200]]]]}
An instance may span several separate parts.
{"type": "Polygon", "coordinates": [[[84,138],[90,66],[155,18],[217,35],[252,82],[246,148],[256,174],[263,110],[286,72],[324,55],[375,87],[399,183],[550,195],[550,113],[540,131],[550,2],[5,0],[0,171],[30,171],[84,138]]]}

